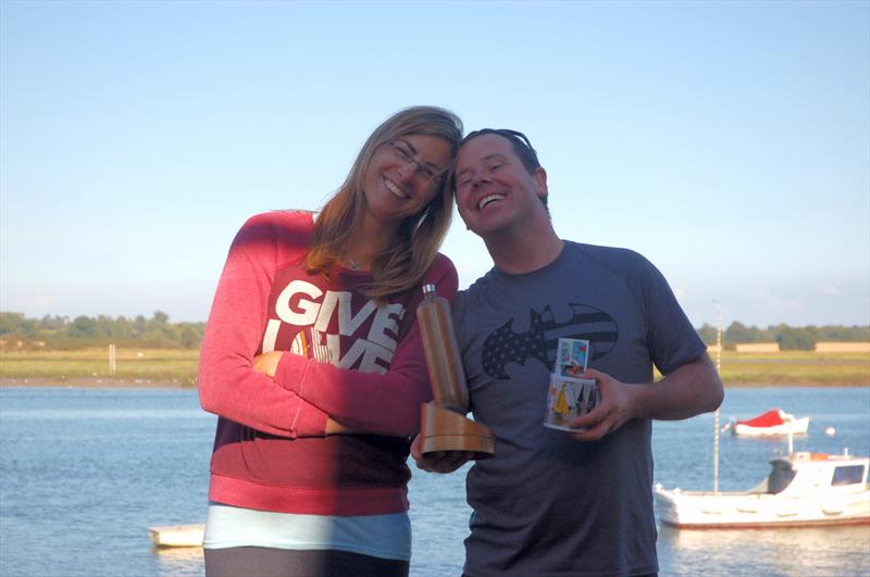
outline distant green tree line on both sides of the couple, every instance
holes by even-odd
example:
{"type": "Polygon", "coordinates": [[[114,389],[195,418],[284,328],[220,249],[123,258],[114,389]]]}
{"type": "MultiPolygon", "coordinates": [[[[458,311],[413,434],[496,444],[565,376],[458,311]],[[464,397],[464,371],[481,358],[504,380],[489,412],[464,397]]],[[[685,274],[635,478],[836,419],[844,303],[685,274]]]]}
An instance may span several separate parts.
{"type": "MultiPolygon", "coordinates": [[[[166,313],[156,311],[151,318],[138,315],[97,317],[50,316],[27,318],[22,313],[0,312],[2,348],[82,349],[115,343],[119,347],[197,349],[206,323],[171,323],[166,313]],[[21,342],[21,344],[18,344],[21,342]]],[[[716,344],[716,327],[705,323],[696,329],[704,342],[716,344]]],[[[783,350],[812,350],[818,341],[870,341],[870,326],[805,326],[785,324],[758,328],[734,322],[722,331],[722,344],[733,348],[744,342],[778,342],[783,350]]]]}

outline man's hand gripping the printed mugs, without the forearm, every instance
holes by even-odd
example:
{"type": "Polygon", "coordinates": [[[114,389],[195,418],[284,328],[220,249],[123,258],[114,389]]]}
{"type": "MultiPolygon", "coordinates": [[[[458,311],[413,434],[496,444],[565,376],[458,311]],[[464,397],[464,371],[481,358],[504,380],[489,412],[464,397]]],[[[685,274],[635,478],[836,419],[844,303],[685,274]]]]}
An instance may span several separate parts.
{"type": "Polygon", "coordinates": [[[577,378],[594,378],[598,384],[600,401],[595,409],[568,424],[572,429],[586,429],[573,434],[576,440],[598,441],[637,416],[635,401],[644,385],[626,385],[594,368],[587,369],[577,378]]]}

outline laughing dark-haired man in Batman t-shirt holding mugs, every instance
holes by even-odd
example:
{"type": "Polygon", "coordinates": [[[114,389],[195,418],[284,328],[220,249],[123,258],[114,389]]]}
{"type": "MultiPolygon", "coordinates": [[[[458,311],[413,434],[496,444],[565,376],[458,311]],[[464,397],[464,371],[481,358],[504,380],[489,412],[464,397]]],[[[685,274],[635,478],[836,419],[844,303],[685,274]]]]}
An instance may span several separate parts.
{"type": "MultiPolygon", "coordinates": [[[[722,384],[661,274],[639,254],[560,239],[547,173],[521,133],[462,141],[456,201],[495,267],[460,292],[453,325],[470,410],[496,454],[468,474],[468,577],[658,570],[651,419],[713,411],[722,384]],[[564,432],[543,426],[559,337],[591,341],[600,403],[564,432]],[[654,364],[666,377],[652,382],[654,364]]],[[[423,457],[447,473],[468,459],[423,457]]]]}

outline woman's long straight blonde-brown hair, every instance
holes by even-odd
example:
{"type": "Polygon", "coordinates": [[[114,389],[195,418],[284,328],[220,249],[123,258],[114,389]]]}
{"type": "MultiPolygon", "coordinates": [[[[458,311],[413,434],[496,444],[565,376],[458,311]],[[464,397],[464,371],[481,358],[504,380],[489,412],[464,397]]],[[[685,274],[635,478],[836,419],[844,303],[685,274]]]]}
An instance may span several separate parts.
{"type": "MultiPolygon", "coordinates": [[[[452,112],[436,106],[401,110],[375,128],[357,155],[341,187],[326,202],[314,223],[311,246],[304,258],[309,273],[330,276],[348,249],[365,206],[363,179],[377,147],[408,135],[444,138],[450,145],[452,163],[462,139],[462,121],[452,112]]],[[[452,196],[448,178],[442,178],[432,201],[399,225],[395,242],[371,262],[373,281],[365,287],[369,297],[383,299],[420,284],[450,227],[452,196]]]]}

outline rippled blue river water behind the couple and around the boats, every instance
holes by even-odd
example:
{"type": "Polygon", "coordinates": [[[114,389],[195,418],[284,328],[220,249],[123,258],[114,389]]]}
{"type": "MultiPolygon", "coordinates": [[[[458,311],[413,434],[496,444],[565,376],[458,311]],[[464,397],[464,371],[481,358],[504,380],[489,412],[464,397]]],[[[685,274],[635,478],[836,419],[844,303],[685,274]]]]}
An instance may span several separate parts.
{"type": "MultiPolygon", "coordinates": [[[[773,406],[811,417],[796,450],[870,454],[870,388],[730,389],[722,424],[773,406]]],[[[203,575],[201,550],[154,550],[147,528],[203,520],[214,424],[190,390],[0,389],[0,575],[203,575]]],[[[712,431],[712,415],[656,423],[656,480],[711,489],[712,431]]],[[[755,486],[784,450],[781,440],[722,437],[720,489],[755,486]]],[[[415,471],[411,506],[411,574],[460,575],[464,469],[415,471]]],[[[870,575],[870,526],[663,527],[659,562],[663,576],[870,575]]]]}

